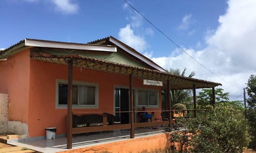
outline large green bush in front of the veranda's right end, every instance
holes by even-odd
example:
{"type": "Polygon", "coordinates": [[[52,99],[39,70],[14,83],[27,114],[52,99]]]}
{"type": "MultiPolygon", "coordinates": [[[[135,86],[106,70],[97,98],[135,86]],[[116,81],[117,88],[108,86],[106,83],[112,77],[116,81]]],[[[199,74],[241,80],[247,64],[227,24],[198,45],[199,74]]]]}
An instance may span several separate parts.
{"type": "Polygon", "coordinates": [[[177,123],[184,130],[173,132],[170,141],[190,146],[191,152],[242,152],[251,141],[244,109],[237,103],[223,102],[206,118],[180,118],[177,123]]]}

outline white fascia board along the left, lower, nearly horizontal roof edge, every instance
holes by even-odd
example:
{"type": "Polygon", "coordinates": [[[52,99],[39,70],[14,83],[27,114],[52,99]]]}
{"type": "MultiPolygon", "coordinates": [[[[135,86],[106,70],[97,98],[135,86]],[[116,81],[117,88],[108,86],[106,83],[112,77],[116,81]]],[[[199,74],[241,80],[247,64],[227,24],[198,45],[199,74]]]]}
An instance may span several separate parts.
{"type": "Polygon", "coordinates": [[[116,47],[25,39],[25,46],[117,52],[116,47]]]}

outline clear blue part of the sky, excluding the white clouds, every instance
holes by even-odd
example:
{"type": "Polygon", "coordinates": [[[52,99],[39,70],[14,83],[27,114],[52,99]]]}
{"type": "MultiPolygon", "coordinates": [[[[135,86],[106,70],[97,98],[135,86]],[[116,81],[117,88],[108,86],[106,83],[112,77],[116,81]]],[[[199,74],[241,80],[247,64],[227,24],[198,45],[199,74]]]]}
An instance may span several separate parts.
{"type": "MultiPolygon", "coordinates": [[[[203,44],[204,33],[218,26],[219,15],[225,13],[227,3],[217,1],[130,1],[134,7],[147,16],[166,34],[184,47],[194,47],[198,41],[203,44]],[[182,18],[191,15],[189,27],[177,30],[182,18]],[[189,32],[194,32],[189,35],[189,32]]],[[[77,4],[74,13],[56,10],[56,5],[41,0],[2,0],[0,4],[0,47],[6,48],[24,38],[88,42],[112,35],[118,38],[119,29],[131,22],[129,10],[124,1],[70,1],[77,4]]],[[[131,11],[131,10],[130,10],[131,11]]],[[[131,13],[130,13],[131,14],[131,13]]],[[[141,19],[140,28],[134,33],[147,40],[147,50],[154,51],[154,57],[169,55],[175,48],[151,25],[141,19]],[[141,32],[150,28],[153,35],[141,32]],[[143,30],[142,30],[143,31],[143,30]]]]}

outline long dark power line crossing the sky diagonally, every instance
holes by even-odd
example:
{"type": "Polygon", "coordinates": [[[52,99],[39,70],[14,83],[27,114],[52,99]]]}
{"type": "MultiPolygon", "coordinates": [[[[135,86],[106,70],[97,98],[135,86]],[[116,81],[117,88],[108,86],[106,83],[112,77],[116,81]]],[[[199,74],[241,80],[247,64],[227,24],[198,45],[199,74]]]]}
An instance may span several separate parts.
{"type": "MultiPolygon", "coordinates": [[[[178,48],[180,48],[184,53],[186,53],[189,57],[191,57],[193,60],[195,60],[198,64],[200,64],[201,66],[203,66],[205,69],[207,69],[209,72],[211,72],[213,75],[215,75],[216,77],[220,78],[222,81],[226,82],[229,85],[232,85],[234,87],[236,87],[235,85],[225,81],[224,79],[222,79],[221,77],[219,77],[217,74],[215,74],[214,72],[212,72],[210,69],[208,69],[207,67],[205,67],[203,64],[201,64],[200,62],[198,62],[193,56],[189,55],[184,49],[182,49],[178,44],[176,44],[171,38],[169,38],[166,34],[164,34],[160,29],[158,29],[153,23],[151,23],[146,17],[144,17],[138,10],[136,10],[130,3],[128,3],[126,0],[124,0],[125,3],[127,3],[133,10],[135,10],[137,13],[139,13],[144,19],[146,19],[148,21],[148,23],[150,23],[152,26],[154,26],[160,33],[162,33],[168,40],[170,40],[174,45],[176,45],[178,48]]],[[[239,87],[236,87],[238,89],[241,89],[239,87]]]]}

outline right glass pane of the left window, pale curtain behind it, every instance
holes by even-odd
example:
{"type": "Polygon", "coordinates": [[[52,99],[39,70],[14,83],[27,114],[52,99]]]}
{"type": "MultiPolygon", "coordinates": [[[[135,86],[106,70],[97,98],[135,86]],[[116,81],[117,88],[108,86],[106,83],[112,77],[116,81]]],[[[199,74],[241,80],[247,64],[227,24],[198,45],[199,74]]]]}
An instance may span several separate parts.
{"type": "Polygon", "coordinates": [[[95,87],[79,85],[79,105],[96,105],[95,87]]]}

